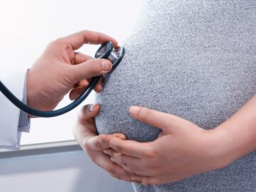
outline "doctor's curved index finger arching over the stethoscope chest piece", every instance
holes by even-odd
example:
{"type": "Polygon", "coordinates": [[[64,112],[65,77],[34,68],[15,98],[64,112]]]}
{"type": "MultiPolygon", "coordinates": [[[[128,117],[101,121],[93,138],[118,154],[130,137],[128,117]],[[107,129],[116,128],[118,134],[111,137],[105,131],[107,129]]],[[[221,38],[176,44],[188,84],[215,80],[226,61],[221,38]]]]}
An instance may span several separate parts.
{"type": "Polygon", "coordinates": [[[117,46],[117,41],[107,36],[103,33],[95,32],[95,31],[80,31],[78,33],[74,33],[70,36],[65,36],[63,38],[58,38],[55,42],[60,44],[67,44],[72,46],[73,50],[77,50],[84,44],[102,44],[106,41],[112,41],[114,46],[117,46]]]}

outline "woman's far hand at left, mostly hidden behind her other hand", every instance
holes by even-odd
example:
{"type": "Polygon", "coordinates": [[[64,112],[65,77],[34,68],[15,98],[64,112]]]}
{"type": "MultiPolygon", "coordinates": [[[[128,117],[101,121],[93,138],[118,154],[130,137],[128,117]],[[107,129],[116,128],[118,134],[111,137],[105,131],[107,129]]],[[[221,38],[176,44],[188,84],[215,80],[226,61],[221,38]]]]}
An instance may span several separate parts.
{"type": "Polygon", "coordinates": [[[100,105],[85,105],[82,108],[78,115],[78,121],[73,129],[75,139],[95,164],[105,169],[111,176],[131,182],[130,174],[122,166],[112,162],[110,156],[103,153],[103,149],[107,149],[108,146],[105,146],[102,140],[111,138],[124,140],[126,138],[123,134],[97,135],[94,117],[99,111],[100,105]]]}

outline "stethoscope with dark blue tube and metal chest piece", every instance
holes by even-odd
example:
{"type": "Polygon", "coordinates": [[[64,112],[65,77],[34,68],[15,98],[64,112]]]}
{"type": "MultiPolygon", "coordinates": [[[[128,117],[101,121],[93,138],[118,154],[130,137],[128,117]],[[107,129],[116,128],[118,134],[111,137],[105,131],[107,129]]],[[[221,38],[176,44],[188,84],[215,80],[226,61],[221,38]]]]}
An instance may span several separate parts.
{"type": "MultiPolygon", "coordinates": [[[[98,50],[95,53],[95,58],[105,58],[107,60],[110,60],[112,62],[112,70],[117,67],[117,65],[122,60],[123,56],[124,48],[119,46],[117,48],[114,48],[113,43],[110,41],[103,43],[102,46],[100,46],[100,48],[98,48],[98,50]]],[[[75,107],[78,107],[78,105],[80,105],[80,103],[83,102],[86,99],[86,97],[90,94],[90,92],[93,90],[98,80],[100,80],[100,76],[92,78],[90,84],[84,90],[84,92],[82,92],[78,99],[76,99],[74,102],[71,102],[69,105],[63,108],[54,111],[35,110],[32,107],[25,105],[23,102],[18,100],[18,98],[15,97],[14,94],[12,94],[12,92],[1,82],[1,80],[0,90],[7,97],[8,100],[10,100],[14,105],[16,105],[16,107],[18,107],[20,110],[23,110],[28,114],[32,114],[36,117],[55,117],[61,114],[65,114],[66,112],[73,110],[75,107]]]]}

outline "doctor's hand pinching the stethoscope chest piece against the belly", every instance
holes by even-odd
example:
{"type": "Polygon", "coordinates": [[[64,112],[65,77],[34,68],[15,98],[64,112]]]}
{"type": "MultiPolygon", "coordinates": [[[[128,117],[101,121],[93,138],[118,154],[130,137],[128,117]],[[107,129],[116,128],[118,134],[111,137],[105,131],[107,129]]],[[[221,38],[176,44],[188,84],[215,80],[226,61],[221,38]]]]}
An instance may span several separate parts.
{"type": "MultiPolygon", "coordinates": [[[[105,59],[93,59],[75,50],[83,44],[101,44],[115,41],[110,36],[93,31],[80,31],[49,43],[46,50],[28,70],[27,103],[37,110],[53,110],[64,95],[70,92],[75,100],[92,77],[107,73],[112,63],[105,59]]],[[[95,91],[102,90],[102,79],[95,91]]]]}

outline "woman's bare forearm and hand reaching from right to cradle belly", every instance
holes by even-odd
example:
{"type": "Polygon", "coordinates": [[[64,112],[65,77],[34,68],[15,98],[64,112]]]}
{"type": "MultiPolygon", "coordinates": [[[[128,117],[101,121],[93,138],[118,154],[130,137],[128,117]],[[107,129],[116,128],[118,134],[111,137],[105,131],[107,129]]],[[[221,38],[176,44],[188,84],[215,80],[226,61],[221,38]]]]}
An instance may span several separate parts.
{"type": "MultiPolygon", "coordinates": [[[[206,130],[172,114],[132,106],[132,117],[162,130],[159,138],[140,143],[104,136],[96,142],[132,181],[144,185],[169,183],[223,168],[254,151],[255,109],[256,95],[223,124],[206,130]]],[[[75,129],[86,130],[87,126],[75,129]]],[[[90,144],[85,146],[90,148],[90,144]]]]}

